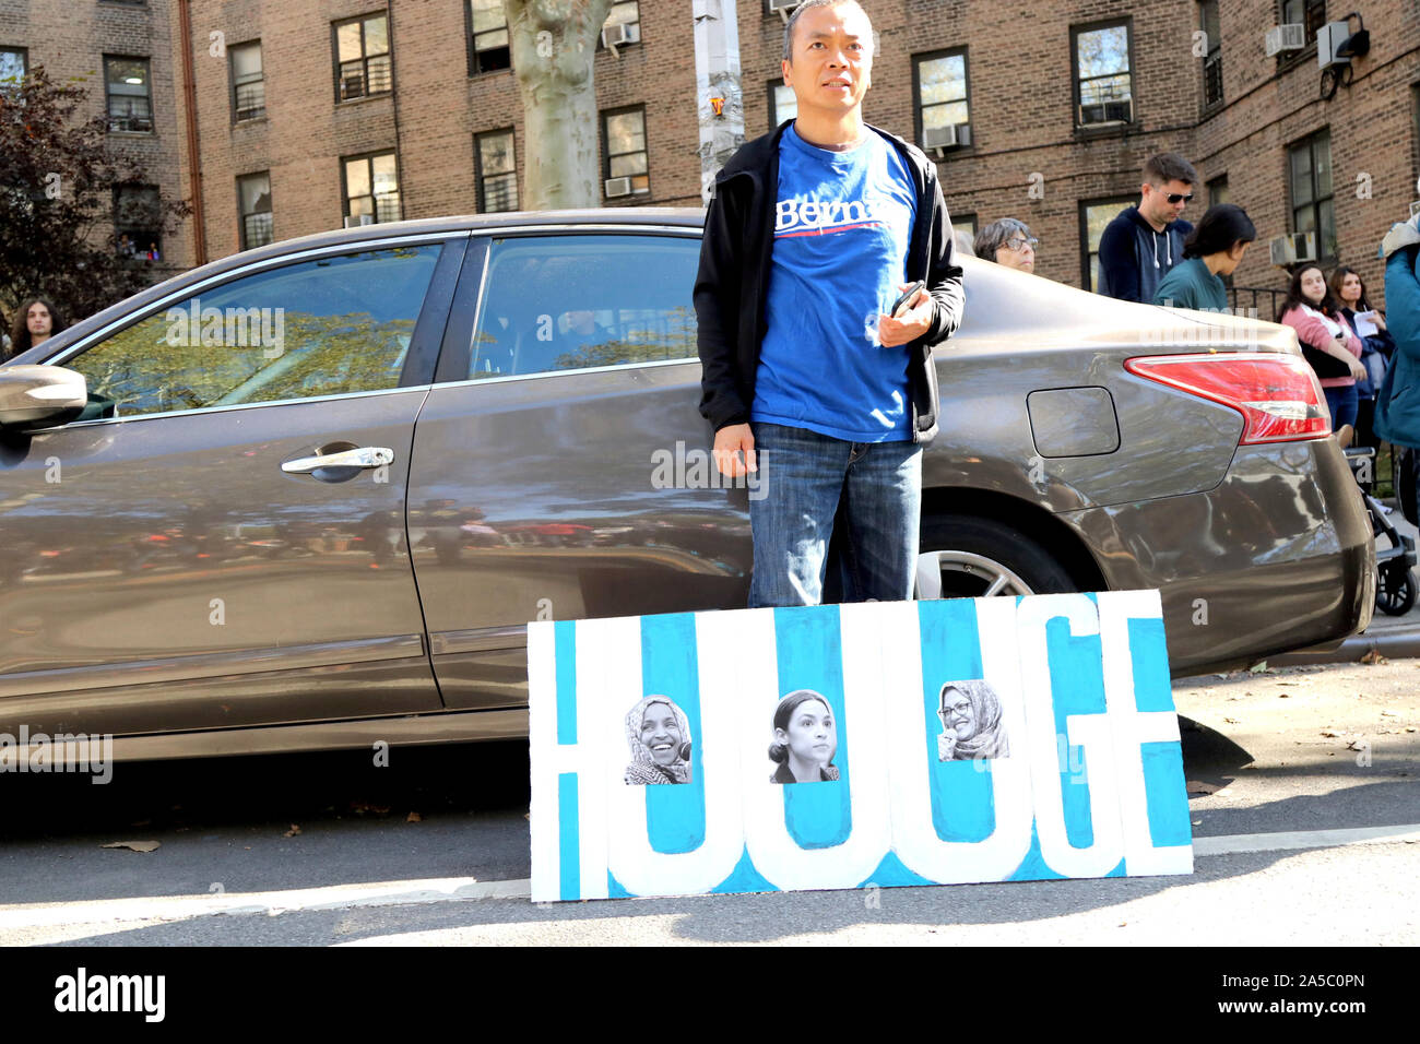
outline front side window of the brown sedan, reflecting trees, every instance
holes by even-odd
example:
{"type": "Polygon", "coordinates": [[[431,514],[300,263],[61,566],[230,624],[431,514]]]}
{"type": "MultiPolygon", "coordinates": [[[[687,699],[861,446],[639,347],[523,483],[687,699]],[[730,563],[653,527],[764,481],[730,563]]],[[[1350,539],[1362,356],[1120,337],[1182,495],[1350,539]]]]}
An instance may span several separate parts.
{"type": "Polygon", "coordinates": [[[440,249],[366,250],[237,278],[64,365],[121,418],[395,388],[440,249]]]}

